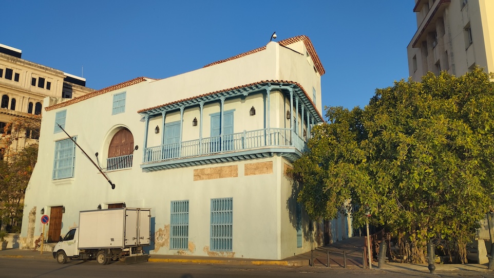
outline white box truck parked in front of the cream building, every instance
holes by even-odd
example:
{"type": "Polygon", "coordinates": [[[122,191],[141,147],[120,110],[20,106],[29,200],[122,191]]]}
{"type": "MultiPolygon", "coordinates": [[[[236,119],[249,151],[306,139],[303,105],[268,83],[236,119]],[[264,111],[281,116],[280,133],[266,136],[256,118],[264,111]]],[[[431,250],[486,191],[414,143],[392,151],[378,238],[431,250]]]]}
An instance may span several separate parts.
{"type": "Polygon", "coordinates": [[[118,208],[81,211],[79,226],[53,248],[53,258],[60,264],[67,259],[94,260],[106,265],[119,260],[127,264],[147,262],[142,250],[150,245],[151,211],[118,208]]]}

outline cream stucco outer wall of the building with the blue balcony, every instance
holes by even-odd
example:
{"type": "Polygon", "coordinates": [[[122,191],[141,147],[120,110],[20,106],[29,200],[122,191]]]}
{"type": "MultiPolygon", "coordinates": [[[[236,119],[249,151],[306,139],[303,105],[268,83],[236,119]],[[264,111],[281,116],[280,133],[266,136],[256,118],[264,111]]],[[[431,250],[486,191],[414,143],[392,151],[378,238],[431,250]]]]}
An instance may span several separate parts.
{"type": "MultiPolygon", "coordinates": [[[[305,49],[303,44],[300,49],[305,49]]],[[[301,51],[302,51],[301,50],[301,51]]],[[[303,52],[303,51],[302,51],[303,52]]],[[[25,217],[21,237],[29,247],[28,227],[34,226],[37,237],[42,231],[40,210],[50,213],[50,207],[64,206],[62,234],[78,225],[79,211],[106,208],[108,204],[125,202],[127,207],[150,208],[153,217],[153,232],[156,240],[151,254],[183,254],[198,256],[234,256],[246,258],[281,259],[293,253],[310,250],[304,242],[297,248],[296,229],[291,207],[287,200],[292,194],[291,182],[283,174],[290,163],[281,156],[246,159],[232,162],[188,166],[182,168],[146,172],[141,169],[144,144],[159,146],[163,135],[161,116],[149,119],[147,141],[145,118],[137,111],[186,98],[208,94],[263,80],[287,80],[302,85],[309,97],[312,87],[318,90],[320,100],[320,76],[314,72],[313,64],[305,55],[270,43],[267,49],[232,61],[187,72],[163,80],[147,80],[122,89],[115,89],[97,97],[72,103],[66,107],[44,110],[38,163],[26,190],[25,217]],[[125,113],[111,115],[113,95],[126,92],[125,113]],[[105,168],[108,146],[113,135],[120,128],[127,128],[134,137],[133,165],[130,169],[107,171],[107,176],[116,184],[112,190],[109,183],[96,167],[77,149],[75,151],[75,172],[73,178],[52,180],[55,142],[67,138],[53,133],[55,115],[67,110],[65,130],[77,136],[77,142],[86,153],[105,168]],[[160,132],[155,134],[155,127],[160,132]],[[268,162],[272,168],[267,173],[245,174],[245,167],[252,163],[268,162]],[[231,176],[224,178],[202,178],[195,180],[195,171],[216,167],[233,167],[231,176]],[[233,198],[233,249],[231,252],[211,252],[210,211],[212,198],[233,198]],[[189,200],[189,248],[170,250],[169,225],[170,201],[189,200]],[[26,217],[35,208],[36,220],[30,223],[26,217]],[[168,236],[168,241],[167,241],[168,236]]],[[[49,99],[45,99],[45,104],[49,99]]],[[[294,103],[295,105],[295,103],[294,103]]],[[[316,103],[320,110],[320,101],[316,103]]],[[[269,117],[265,92],[254,92],[248,96],[235,97],[224,101],[224,110],[234,110],[234,133],[270,127],[290,128],[286,111],[290,101],[278,89],[270,94],[269,117]],[[254,106],[256,115],[249,110],[254,106]]],[[[219,101],[205,103],[203,117],[198,106],[186,107],[183,113],[182,141],[196,140],[211,136],[210,115],[220,112],[219,101]],[[192,126],[197,118],[198,125],[192,126]]],[[[299,115],[299,121],[301,116],[299,115]]],[[[180,121],[179,110],[166,113],[166,123],[180,121]]],[[[300,126],[299,134],[306,126],[300,126]]],[[[268,167],[268,168],[269,168],[268,167]]],[[[232,169],[232,168],[229,168],[232,169]]]]}

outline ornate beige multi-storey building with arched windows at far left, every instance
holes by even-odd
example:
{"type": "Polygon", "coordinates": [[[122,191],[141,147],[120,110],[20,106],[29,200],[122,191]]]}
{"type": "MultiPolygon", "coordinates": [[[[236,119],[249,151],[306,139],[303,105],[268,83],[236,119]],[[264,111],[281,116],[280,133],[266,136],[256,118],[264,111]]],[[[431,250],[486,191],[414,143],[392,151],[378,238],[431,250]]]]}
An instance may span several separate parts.
{"type": "MultiPolygon", "coordinates": [[[[21,55],[22,50],[0,44],[0,151],[5,148],[4,126],[15,118],[40,115],[45,97],[72,98],[94,91],[86,87],[84,78],[26,61],[21,55]]],[[[27,131],[10,149],[23,149],[37,142],[39,135],[40,131],[27,131]]]]}

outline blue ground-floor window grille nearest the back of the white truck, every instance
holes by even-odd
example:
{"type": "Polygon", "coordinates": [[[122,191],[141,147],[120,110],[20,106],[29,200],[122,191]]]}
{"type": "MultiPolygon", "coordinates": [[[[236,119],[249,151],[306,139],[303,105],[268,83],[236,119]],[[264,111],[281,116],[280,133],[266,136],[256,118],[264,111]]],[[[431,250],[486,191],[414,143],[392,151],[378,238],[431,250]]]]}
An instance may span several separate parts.
{"type": "Polygon", "coordinates": [[[172,201],[170,215],[170,249],[188,248],[188,200],[172,201]]]}

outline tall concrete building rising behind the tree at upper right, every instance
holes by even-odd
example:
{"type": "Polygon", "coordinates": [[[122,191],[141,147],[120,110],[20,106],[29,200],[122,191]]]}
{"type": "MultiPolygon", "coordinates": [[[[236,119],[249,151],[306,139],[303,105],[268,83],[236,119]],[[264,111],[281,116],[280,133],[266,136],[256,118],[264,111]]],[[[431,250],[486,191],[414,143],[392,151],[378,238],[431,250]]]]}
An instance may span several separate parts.
{"type": "Polygon", "coordinates": [[[407,47],[410,76],[461,76],[475,65],[494,71],[494,1],[415,0],[417,31],[407,47]]]}

